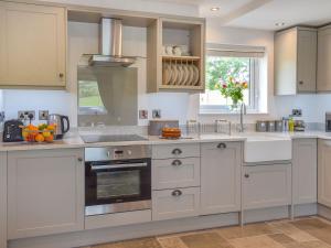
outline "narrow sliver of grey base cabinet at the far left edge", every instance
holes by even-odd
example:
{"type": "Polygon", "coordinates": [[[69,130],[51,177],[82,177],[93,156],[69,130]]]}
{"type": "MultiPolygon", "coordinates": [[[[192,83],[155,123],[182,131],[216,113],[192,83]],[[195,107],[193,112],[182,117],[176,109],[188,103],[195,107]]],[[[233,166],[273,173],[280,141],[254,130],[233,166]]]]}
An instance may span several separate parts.
{"type": "Polygon", "coordinates": [[[7,152],[0,152],[0,248],[7,248],[7,152]]]}

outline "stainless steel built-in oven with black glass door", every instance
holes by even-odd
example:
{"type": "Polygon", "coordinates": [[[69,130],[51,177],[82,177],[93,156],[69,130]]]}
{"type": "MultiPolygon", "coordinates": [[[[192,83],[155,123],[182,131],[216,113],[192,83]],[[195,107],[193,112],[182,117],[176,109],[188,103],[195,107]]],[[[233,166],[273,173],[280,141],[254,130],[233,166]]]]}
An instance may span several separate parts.
{"type": "Polygon", "coordinates": [[[149,145],[85,149],[85,215],[150,209],[149,145]]]}

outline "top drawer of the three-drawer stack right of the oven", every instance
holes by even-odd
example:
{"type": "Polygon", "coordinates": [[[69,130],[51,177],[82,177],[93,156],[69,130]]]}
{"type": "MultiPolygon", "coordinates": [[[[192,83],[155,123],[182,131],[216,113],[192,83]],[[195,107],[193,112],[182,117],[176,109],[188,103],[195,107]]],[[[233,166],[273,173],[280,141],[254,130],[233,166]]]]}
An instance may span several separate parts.
{"type": "Polygon", "coordinates": [[[172,159],[200,157],[199,143],[191,144],[161,144],[152,147],[153,159],[172,159]]]}

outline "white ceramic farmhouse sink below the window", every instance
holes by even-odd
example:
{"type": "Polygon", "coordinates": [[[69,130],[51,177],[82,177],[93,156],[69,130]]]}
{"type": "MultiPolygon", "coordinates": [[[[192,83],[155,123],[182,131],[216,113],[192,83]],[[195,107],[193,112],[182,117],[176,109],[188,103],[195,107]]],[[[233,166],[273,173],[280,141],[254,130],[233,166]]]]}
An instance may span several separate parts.
{"type": "Polygon", "coordinates": [[[292,142],[289,137],[247,136],[244,148],[246,163],[292,159],[292,142]]]}

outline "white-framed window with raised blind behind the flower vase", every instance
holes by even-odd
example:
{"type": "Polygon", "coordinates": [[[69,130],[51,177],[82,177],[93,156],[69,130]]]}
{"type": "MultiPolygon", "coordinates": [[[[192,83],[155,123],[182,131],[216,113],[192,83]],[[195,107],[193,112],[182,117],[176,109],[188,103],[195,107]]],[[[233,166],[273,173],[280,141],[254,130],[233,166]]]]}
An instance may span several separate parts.
{"type": "Polygon", "coordinates": [[[244,104],[250,111],[258,111],[260,62],[263,47],[209,45],[205,65],[205,93],[200,95],[202,114],[231,112],[231,98],[225,98],[220,84],[233,77],[235,82],[246,82],[244,104]]]}

